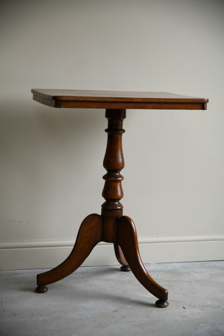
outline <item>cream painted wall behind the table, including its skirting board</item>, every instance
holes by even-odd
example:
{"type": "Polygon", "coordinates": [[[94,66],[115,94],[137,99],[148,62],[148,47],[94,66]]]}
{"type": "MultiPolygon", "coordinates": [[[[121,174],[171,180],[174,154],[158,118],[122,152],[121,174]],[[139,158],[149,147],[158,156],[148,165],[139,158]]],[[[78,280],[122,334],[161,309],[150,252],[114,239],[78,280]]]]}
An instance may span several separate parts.
{"type": "MultiPolygon", "coordinates": [[[[31,88],[164,91],[207,111],[127,111],[124,214],[143,262],[224,258],[224,2],[2,1],[0,267],[53,267],[100,213],[103,110],[31,88]]],[[[100,244],[84,265],[116,264],[100,244]]]]}

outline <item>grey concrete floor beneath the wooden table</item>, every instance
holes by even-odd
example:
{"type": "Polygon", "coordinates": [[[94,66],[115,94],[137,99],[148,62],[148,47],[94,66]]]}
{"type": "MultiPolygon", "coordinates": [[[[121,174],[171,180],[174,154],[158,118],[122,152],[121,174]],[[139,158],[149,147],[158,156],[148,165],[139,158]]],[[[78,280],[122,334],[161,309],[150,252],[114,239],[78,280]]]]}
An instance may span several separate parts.
{"type": "Polygon", "coordinates": [[[0,335],[224,335],[224,261],[145,267],[169,290],[167,308],[119,266],[80,267],[43,294],[43,270],[1,271],[0,335]]]}

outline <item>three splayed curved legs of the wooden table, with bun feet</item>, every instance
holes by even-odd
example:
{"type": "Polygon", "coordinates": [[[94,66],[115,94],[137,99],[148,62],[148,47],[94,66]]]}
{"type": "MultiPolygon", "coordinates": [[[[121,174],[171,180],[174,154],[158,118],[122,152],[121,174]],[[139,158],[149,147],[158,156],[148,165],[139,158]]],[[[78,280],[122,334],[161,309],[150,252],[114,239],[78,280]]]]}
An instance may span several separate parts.
{"type": "MultiPolygon", "coordinates": [[[[132,270],[137,280],[155,297],[158,307],[167,307],[168,291],[157,284],[145,269],[139,249],[134,222],[127,216],[120,218],[103,218],[102,215],[92,214],[82,222],[76,243],[70,255],[57,267],[37,275],[37,293],[45,293],[46,285],[59,281],[74,272],[88,257],[93,247],[100,241],[105,241],[103,235],[107,226],[107,237],[113,236],[110,241],[114,243],[118,261],[123,271],[132,270]],[[109,227],[109,229],[108,229],[109,227]]],[[[106,240],[108,242],[108,239],[106,240]]]]}

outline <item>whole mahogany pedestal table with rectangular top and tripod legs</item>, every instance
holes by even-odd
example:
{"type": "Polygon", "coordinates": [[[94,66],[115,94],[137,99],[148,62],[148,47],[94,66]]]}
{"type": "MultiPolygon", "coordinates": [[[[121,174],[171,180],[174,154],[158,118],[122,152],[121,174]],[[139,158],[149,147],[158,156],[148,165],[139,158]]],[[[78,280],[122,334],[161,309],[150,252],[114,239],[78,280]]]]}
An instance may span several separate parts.
{"type": "Polygon", "coordinates": [[[123,120],[126,109],[206,110],[206,98],[181,96],[163,92],[120,92],[32,89],[33,99],[55,108],[105,109],[108,120],[106,153],[103,167],[107,173],[102,196],[101,215],[87,216],[78,232],[74,248],[68,258],[57,267],[37,275],[36,292],[44,293],[46,285],[61,280],[75,271],[88,257],[93,247],[103,241],[114,243],[116,257],[123,271],[132,270],[138,281],[157,300],[158,307],[168,306],[168,291],[157,284],[146,271],[139,254],[135,224],[123,216],[121,170],[123,120]],[[130,267],[130,268],[129,268],[130,267]]]}

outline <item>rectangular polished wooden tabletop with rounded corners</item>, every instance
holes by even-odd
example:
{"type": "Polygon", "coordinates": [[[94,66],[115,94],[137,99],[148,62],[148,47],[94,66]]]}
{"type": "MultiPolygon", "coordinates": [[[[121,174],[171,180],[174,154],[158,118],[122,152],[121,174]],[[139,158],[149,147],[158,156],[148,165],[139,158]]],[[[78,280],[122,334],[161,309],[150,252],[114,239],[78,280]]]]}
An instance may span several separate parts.
{"type": "Polygon", "coordinates": [[[33,99],[57,108],[206,110],[207,98],[167,92],[32,89],[33,99]]]}

